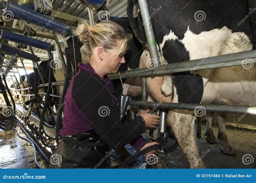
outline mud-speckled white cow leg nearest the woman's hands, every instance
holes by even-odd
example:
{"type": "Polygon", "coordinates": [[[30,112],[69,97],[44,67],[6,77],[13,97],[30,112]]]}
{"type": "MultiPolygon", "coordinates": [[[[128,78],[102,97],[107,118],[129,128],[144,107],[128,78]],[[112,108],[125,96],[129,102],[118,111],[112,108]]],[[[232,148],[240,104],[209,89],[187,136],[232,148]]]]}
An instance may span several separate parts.
{"type": "Polygon", "coordinates": [[[196,117],[193,112],[182,110],[169,111],[167,123],[172,129],[181,149],[183,150],[191,168],[205,168],[202,158],[199,156],[194,124],[196,117]]]}

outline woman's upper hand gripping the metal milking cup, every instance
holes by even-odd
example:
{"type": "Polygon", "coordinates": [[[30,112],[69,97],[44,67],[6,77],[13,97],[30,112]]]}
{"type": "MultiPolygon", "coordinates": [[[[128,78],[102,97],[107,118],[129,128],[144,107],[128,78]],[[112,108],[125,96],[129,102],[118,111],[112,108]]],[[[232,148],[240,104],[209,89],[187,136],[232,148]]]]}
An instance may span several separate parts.
{"type": "Polygon", "coordinates": [[[150,114],[149,111],[149,109],[143,111],[140,116],[143,117],[147,129],[156,129],[160,123],[160,116],[150,114]]]}

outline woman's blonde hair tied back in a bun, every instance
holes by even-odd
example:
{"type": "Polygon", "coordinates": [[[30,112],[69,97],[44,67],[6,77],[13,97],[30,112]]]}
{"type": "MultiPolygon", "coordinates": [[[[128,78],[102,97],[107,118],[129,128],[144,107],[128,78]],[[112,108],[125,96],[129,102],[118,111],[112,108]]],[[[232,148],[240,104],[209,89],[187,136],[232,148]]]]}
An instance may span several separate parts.
{"type": "Polygon", "coordinates": [[[79,40],[84,44],[85,58],[83,62],[88,62],[92,55],[92,50],[96,46],[102,46],[104,50],[109,51],[113,47],[118,45],[119,40],[123,40],[117,57],[121,53],[125,53],[128,49],[129,42],[132,35],[127,34],[123,27],[111,22],[105,21],[96,24],[94,27],[90,27],[87,22],[78,25],[76,33],[79,36],[79,40]]]}

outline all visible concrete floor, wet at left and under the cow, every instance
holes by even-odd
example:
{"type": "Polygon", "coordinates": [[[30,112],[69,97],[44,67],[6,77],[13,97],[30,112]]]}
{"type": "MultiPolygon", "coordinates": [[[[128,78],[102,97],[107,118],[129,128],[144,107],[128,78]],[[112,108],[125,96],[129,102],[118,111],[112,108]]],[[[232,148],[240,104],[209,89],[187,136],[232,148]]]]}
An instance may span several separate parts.
{"type": "MultiPolygon", "coordinates": [[[[202,135],[204,135],[204,125],[202,130],[202,135]]],[[[215,135],[217,135],[217,131],[218,129],[214,128],[215,135]]],[[[204,139],[197,139],[200,153],[205,152],[208,149],[210,150],[210,152],[203,158],[206,167],[256,168],[256,133],[240,130],[227,130],[227,136],[230,145],[237,152],[237,156],[226,156],[220,152],[218,144],[211,145],[204,139]],[[244,154],[252,154],[254,162],[250,165],[244,165],[242,163],[242,156],[244,156],[244,154]]],[[[132,147],[128,146],[127,148],[134,153],[132,147]]],[[[118,158],[118,156],[115,156],[115,158],[118,158]]],[[[43,168],[47,167],[39,154],[37,154],[37,159],[43,168]]],[[[140,158],[140,160],[143,159],[143,157],[140,158]]],[[[174,152],[167,155],[165,163],[169,165],[169,168],[190,167],[179,146],[174,152]]],[[[0,136],[0,168],[36,168],[32,146],[14,134],[9,134],[5,137],[0,136]]]]}

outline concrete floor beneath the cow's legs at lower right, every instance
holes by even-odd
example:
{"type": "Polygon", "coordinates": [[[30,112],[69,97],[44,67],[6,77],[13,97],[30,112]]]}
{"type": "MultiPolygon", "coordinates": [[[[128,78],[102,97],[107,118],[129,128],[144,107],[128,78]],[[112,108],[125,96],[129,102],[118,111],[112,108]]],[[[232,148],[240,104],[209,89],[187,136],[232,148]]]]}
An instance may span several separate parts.
{"type": "MultiPolygon", "coordinates": [[[[204,138],[205,126],[202,125],[202,137],[204,138]]],[[[218,129],[213,128],[215,137],[217,137],[218,129]]],[[[207,168],[256,168],[256,133],[240,130],[227,129],[228,142],[233,147],[237,156],[226,156],[219,150],[218,144],[208,144],[205,139],[197,139],[199,153],[204,153],[208,149],[210,152],[203,158],[207,168]],[[254,162],[250,165],[242,163],[242,156],[251,154],[254,162]]],[[[189,168],[180,146],[177,150],[169,153],[165,159],[170,168],[189,168]]]]}

